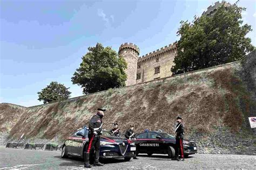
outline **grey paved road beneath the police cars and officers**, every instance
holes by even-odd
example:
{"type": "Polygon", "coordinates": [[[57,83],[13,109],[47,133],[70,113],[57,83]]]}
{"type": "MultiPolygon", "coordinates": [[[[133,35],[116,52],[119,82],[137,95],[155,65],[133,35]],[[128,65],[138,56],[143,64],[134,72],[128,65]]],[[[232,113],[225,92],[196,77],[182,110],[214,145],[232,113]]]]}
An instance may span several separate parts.
{"type": "MultiPolygon", "coordinates": [[[[166,155],[141,155],[138,160],[106,160],[103,167],[92,169],[254,169],[256,156],[195,154],[184,162],[166,155]]],[[[80,159],[62,159],[60,151],[35,151],[0,147],[0,169],[83,169],[80,159]]]]}

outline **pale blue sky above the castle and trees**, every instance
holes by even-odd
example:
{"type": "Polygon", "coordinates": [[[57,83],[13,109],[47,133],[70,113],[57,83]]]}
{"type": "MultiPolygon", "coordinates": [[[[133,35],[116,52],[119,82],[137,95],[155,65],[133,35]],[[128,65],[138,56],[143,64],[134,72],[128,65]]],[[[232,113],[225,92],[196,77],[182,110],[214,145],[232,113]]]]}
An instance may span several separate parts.
{"type": "MultiPolygon", "coordinates": [[[[71,77],[88,47],[100,42],[118,52],[132,42],[145,55],[178,40],[179,22],[192,22],[214,2],[0,0],[0,103],[43,104],[37,92],[51,81],[81,96],[71,77]]],[[[253,29],[247,37],[256,46],[256,1],[240,0],[239,6],[246,8],[243,20],[253,29]]]]}

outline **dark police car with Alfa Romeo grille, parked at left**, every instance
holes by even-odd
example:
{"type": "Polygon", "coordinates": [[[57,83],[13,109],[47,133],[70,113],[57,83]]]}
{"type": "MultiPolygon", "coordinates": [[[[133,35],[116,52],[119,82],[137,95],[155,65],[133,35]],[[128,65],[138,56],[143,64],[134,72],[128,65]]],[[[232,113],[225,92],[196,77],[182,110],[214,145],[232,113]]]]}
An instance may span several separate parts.
{"type": "MultiPolygon", "coordinates": [[[[89,143],[88,132],[89,129],[84,127],[67,138],[62,145],[61,157],[68,158],[71,156],[84,158],[83,153],[89,143]]],[[[91,152],[94,152],[94,148],[92,148],[91,152]]],[[[134,141],[116,137],[110,131],[103,130],[103,135],[100,136],[100,159],[124,158],[124,160],[129,161],[135,154],[136,146],[134,141]]]]}

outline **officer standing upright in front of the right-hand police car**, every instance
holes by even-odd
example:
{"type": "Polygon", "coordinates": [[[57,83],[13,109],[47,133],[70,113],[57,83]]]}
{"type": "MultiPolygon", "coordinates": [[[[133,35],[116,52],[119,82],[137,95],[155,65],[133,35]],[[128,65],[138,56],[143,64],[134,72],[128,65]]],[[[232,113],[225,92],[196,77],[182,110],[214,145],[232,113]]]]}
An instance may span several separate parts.
{"type": "Polygon", "coordinates": [[[175,133],[176,133],[176,151],[175,151],[175,159],[178,161],[184,161],[184,148],[183,148],[183,139],[184,139],[184,124],[181,122],[182,118],[180,116],[176,117],[176,125],[175,133]],[[181,155],[181,159],[179,158],[181,155]]]}

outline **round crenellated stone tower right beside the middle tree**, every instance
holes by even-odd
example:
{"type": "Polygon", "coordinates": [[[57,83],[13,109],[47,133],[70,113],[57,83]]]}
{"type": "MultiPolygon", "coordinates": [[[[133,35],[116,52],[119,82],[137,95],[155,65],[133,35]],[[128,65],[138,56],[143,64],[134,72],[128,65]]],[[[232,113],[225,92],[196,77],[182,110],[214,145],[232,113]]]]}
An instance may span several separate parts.
{"type": "Polygon", "coordinates": [[[137,63],[139,56],[139,48],[137,45],[132,43],[124,43],[119,47],[118,54],[122,56],[127,62],[127,80],[125,82],[126,86],[136,84],[136,74],[137,74],[137,63]]]}

